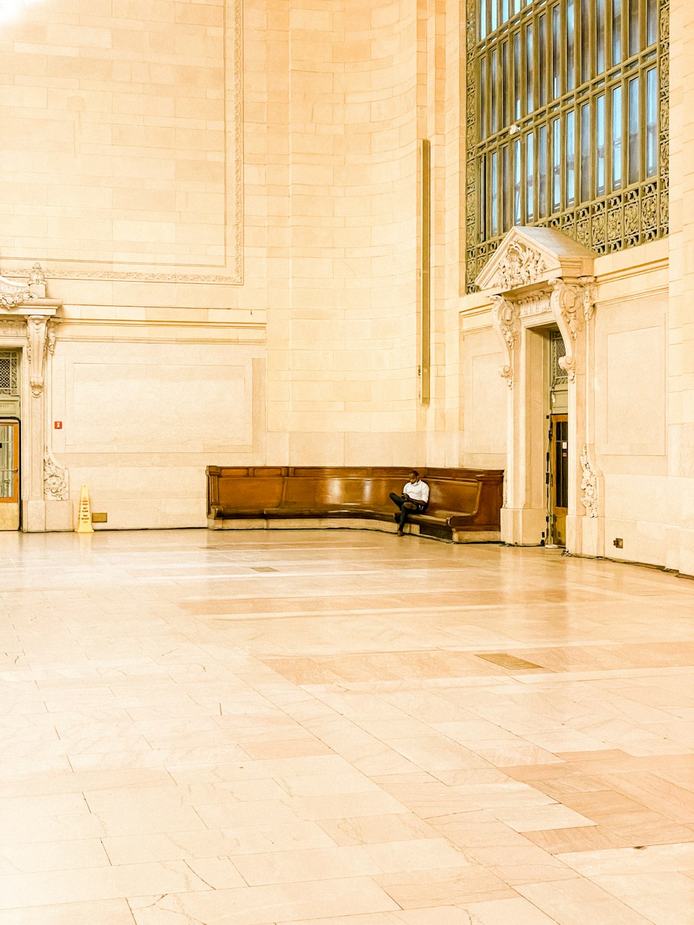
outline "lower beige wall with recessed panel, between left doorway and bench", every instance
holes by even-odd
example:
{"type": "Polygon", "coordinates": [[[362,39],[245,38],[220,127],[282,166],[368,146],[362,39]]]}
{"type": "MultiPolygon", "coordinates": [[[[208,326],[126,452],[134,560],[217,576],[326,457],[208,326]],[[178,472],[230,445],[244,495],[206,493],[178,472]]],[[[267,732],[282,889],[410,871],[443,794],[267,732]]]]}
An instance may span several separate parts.
{"type": "MultiPolygon", "coordinates": [[[[214,340],[204,325],[151,325],[137,338],[114,325],[108,340],[61,328],[49,417],[62,424],[53,454],[71,497],[86,484],[108,528],[204,526],[205,466],[264,455],[262,340],[214,340]]],[[[46,526],[59,525],[49,511],[46,526]]]]}

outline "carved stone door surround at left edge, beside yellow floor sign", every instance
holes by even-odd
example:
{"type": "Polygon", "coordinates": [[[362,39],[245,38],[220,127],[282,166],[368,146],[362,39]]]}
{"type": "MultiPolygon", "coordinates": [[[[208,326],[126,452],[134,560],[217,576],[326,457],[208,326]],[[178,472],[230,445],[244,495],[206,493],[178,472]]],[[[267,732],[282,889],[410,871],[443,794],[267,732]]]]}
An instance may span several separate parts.
{"type": "Polygon", "coordinates": [[[39,264],[25,282],[0,277],[0,346],[21,351],[21,529],[72,529],[68,477],[53,456],[51,360],[61,302],[46,297],[39,264]]]}

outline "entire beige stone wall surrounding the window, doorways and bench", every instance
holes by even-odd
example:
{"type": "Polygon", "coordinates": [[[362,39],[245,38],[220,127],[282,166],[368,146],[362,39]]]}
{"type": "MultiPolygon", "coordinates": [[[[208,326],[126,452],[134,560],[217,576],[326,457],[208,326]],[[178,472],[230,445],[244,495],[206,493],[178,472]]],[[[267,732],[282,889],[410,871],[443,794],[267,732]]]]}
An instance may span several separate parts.
{"type": "MultiPolygon", "coordinates": [[[[51,0],[4,24],[0,265],[41,261],[63,302],[51,449],[109,526],[204,524],[207,463],[503,465],[502,352],[462,295],[462,6],[51,0]]],[[[596,262],[592,426],[607,553],[694,573],[694,15],[671,12],[671,234],[596,262]]]]}

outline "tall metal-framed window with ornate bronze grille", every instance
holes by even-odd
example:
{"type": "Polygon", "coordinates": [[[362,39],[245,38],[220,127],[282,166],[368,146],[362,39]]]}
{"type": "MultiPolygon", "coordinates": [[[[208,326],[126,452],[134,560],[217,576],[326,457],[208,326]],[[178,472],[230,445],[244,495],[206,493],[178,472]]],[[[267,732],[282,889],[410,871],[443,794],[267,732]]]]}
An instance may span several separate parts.
{"type": "Polygon", "coordinates": [[[668,228],[669,0],[467,0],[467,284],[514,225],[668,228]]]}

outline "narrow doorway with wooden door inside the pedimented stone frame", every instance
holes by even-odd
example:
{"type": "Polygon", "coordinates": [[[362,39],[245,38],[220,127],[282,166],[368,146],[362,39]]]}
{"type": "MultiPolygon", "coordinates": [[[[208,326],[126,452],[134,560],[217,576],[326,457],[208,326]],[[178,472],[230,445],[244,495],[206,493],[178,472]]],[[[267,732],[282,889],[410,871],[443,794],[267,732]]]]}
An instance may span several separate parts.
{"type": "Polygon", "coordinates": [[[559,361],[565,355],[564,339],[558,328],[549,330],[550,384],[547,447],[547,533],[551,546],[566,546],[568,513],[568,376],[559,361]]]}

